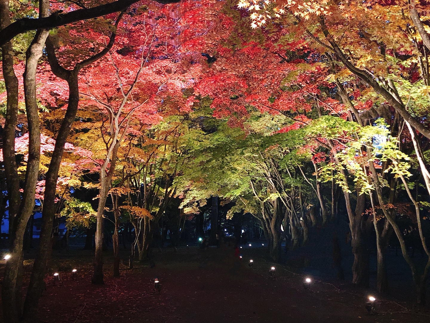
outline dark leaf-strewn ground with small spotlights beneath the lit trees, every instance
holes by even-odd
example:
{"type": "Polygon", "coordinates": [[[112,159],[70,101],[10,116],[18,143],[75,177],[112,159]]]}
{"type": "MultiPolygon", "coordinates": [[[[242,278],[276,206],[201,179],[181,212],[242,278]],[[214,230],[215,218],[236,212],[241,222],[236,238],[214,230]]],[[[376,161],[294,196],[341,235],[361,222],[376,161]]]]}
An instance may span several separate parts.
{"type": "MultiPolygon", "coordinates": [[[[428,307],[419,309],[414,298],[396,302],[376,296],[376,313],[370,315],[365,310],[369,290],[317,279],[304,289],[304,277],[293,268],[271,263],[265,248],[244,247],[240,252],[242,259],[227,247],[163,248],[154,251],[154,267],[135,263],[129,270],[121,265],[119,278],[112,277],[112,254],[107,252],[103,286],[91,284],[92,251],[54,252],[38,319],[46,323],[430,321],[428,307]],[[248,267],[251,257],[253,268],[248,267]],[[271,266],[276,267],[274,277],[269,275],[271,266]],[[55,284],[54,272],[60,276],[55,284]],[[154,292],[155,277],[160,292],[154,292]]],[[[25,261],[26,280],[31,262],[25,261]]]]}

